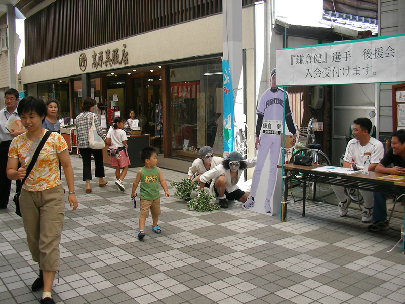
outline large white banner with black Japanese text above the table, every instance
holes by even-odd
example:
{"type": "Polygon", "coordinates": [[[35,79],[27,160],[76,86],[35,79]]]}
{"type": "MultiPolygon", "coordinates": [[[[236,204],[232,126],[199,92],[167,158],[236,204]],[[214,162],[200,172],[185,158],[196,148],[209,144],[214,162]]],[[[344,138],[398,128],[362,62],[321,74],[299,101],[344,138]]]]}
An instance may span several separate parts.
{"type": "Polygon", "coordinates": [[[276,51],[277,86],[405,80],[405,34],[276,51]]]}

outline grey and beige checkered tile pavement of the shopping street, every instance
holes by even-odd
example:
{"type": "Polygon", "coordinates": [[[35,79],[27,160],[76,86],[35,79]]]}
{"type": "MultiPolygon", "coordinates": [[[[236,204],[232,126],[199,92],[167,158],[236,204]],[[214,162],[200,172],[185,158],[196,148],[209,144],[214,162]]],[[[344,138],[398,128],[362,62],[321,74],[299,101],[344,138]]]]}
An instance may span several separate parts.
{"type": "MultiPolygon", "coordinates": [[[[398,231],[370,233],[360,211],[339,217],[337,207],[288,205],[288,220],[243,210],[198,213],[171,196],[162,198],[154,234],[136,238],[139,209],[130,200],[136,169],[121,193],[114,169],[108,185],[85,193],[82,162],[72,156],[79,209],[66,209],[61,271],[53,298],[59,303],[403,303],[405,255],[398,231]]],[[[163,169],[168,184],[185,174],[163,169]]],[[[66,185],[65,185],[66,188],[66,185]]],[[[171,194],[173,188],[169,188],[171,194]]],[[[68,204],[66,204],[68,206],[68,204]]],[[[392,220],[395,226],[401,220],[392,220]]],[[[13,206],[0,211],[0,303],[38,303],[30,286],[38,271],[22,221],[13,206]]]]}

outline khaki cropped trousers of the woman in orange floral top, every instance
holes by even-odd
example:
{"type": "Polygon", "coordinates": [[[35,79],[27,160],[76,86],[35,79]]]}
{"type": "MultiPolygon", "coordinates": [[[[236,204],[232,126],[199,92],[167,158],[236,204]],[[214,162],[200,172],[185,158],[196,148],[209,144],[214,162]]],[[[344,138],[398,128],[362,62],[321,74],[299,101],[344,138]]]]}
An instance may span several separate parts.
{"type": "Polygon", "coordinates": [[[21,189],[20,209],[33,261],[41,263],[41,270],[58,271],[65,212],[63,186],[35,192],[21,189]]]}

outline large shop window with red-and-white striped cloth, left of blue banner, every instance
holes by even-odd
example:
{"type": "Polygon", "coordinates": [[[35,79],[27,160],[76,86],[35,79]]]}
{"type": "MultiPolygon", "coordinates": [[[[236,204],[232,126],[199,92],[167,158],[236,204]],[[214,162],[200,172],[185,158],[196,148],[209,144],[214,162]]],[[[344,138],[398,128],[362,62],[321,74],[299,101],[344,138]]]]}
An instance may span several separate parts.
{"type": "Polygon", "coordinates": [[[194,157],[205,145],[222,155],[221,60],[173,66],[170,75],[171,155],[194,157]]]}

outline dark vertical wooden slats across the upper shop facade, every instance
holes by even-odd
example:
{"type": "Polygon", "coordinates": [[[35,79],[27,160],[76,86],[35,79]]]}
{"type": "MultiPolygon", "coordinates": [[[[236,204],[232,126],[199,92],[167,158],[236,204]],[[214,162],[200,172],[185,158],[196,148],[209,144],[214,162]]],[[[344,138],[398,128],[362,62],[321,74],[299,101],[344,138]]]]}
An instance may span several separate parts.
{"type": "Polygon", "coordinates": [[[56,0],[25,19],[25,64],[218,14],[222,1],[56,0]]]}

